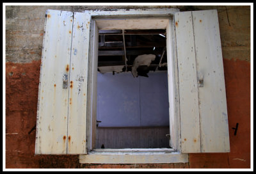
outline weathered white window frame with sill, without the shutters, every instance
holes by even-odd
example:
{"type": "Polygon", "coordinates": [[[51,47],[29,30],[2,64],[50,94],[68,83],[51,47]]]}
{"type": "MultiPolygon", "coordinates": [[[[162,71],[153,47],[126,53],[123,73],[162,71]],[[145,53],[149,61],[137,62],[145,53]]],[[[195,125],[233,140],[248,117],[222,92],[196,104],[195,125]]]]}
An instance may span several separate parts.
{"type": "MultiPolygon", "coordinates": [[[[88,104],[86,155],[79,155],[80,163],[136,164],[188,162],[188,154],[180,153],[179,88],[177,77],[177,52],[175,43],[175,8],[116,11],[85,11],[91,16],[90,49],[88,63],[88,104]],[[144,20],[141,22],[140,20],[144,20]],[[147,22],[145,22],[147,20],[147,22]],[[149,22],[148,22],[149,20],[149,22]],[[170,137],[172,148],[123,148],[94,149],[97,104],[97,52],[99,29],[153,29],[150,21],[164,24],[166,29],[166,51],[168,56],[168,91],[170,105],[170,137]],[[154,20],[154,21],[153,21],[154,20]],[[164,22],[163,22],[164,21],[164,22]],[[136,26],[134,28],[134,24],[136,26]],[[125,28],[124,28],[125,27],[125,28]],[[172,80],[170,80],[172,78],[172,80]],[[171,85],[170,85],[171,84],[171,85]],[[174,130],[174,131],[173,131],[174,130]],[[94,140],[93,140],[94,139],[94,140]]],[[[157,28],[159,29],[159,28],[157,28]]]]}

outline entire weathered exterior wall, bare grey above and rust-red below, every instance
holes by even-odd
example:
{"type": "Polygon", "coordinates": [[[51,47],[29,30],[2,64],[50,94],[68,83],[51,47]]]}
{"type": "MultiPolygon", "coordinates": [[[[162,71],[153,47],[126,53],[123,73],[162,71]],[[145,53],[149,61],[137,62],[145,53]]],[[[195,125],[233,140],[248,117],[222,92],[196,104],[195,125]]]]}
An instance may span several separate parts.
{"type": "Polygon", "coordinates": [[[6,168],[250,168],[250,6],[172,7],[218,10],[230,153],[189,154],[187,164],[79,164],[78,155],[35,156],[35,131],[29,131],[36,124],[45,10],[83,12],[120,6],[6,6],[6,168]]]}

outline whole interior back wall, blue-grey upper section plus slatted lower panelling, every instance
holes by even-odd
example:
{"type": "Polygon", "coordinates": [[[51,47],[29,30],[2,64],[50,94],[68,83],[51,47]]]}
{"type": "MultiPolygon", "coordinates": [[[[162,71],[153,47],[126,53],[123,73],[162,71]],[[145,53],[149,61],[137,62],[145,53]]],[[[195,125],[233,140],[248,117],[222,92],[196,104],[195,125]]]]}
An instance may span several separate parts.
{"type": "Polygon", "coordinates": [[[166,71],[97,75],[96,148],[170,148],[166,71]]]}

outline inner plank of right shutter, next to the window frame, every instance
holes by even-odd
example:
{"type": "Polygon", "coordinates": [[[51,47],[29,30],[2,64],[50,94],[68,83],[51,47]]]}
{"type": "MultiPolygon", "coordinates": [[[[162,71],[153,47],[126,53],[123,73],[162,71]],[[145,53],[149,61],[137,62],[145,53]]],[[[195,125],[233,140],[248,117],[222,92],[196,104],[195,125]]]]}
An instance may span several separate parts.
{"type": "Polygon", "coordinates": [[[175,13],[182,153],[200,152],[198,87],[191,12],[175,13]]]}

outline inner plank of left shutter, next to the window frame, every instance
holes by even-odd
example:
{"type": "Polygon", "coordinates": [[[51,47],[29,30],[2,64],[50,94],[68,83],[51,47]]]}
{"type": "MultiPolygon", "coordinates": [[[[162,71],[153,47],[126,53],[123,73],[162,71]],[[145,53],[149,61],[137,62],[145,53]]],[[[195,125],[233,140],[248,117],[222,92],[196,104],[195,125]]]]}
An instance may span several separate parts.
{"type": "Polygon", "coordinates": [[[89,33],[90,15],[74,13],[68,100],[67,154],[86,154],[89,33]]]}

